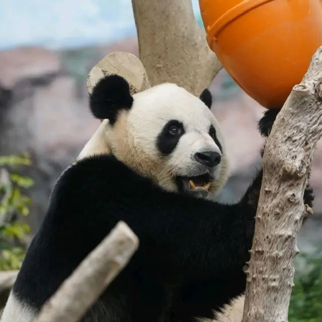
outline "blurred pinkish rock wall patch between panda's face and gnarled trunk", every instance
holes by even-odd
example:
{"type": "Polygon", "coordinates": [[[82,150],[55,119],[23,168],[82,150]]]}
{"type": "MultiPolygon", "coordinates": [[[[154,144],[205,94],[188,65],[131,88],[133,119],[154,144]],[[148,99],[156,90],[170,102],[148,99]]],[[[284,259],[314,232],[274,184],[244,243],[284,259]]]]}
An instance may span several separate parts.
{"type": "Polygon", "coordinates": [[[226,77],[221,71],[210,85],[212,111],[220,122],[230,160],[230,177],[218,196],[221,202],[237,202],[261,166],[259,148],[263,145],[257,122],[264,108],[239,88],[224,97],[222,84],[226,77]]]}

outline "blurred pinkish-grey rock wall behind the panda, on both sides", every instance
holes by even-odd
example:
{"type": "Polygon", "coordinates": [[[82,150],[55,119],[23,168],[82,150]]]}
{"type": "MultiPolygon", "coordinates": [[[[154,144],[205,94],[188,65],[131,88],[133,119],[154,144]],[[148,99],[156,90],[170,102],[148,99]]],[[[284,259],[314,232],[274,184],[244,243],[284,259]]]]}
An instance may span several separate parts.
{"type": "MultiPolygon", "coordinates": [[[[32,155],[33,166],[24,173],[36,182],[30,190],[34,203],[29,222],[33,231],[42,221],[54,182],[99,125],[88,110],[86,78],[92,67],[112,51],[138,55],[137,40],[63,52],[41,48],[0,52],[0,154],[28,151],[32,155]]],[[[221,71],[210,90],[212,110],[220,121],[231,160],[231,176],[218,199],[236,202],[260,167],[263,139],[257,122],[264,108],[238,87],[228,85],[226,73],[221,71]]],[[[306,224],[300,236],[307,247],[316,242],[314,229],[320,227],[315,222],[322,214],[321,162],[319,142],[311,175],[316,195],[314,223],[306,224]]]]}

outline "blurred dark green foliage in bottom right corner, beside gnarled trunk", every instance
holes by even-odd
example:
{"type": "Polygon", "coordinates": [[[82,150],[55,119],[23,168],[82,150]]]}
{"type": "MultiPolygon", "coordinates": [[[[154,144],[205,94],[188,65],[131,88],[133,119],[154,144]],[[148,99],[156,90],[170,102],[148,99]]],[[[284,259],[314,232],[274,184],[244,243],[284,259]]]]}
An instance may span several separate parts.
{"type": "Polygon", "coordinates": [[[322,322],[322,256],[300,254],[304,269],[296,270],[289,307],[290,322],[322,322]]]}

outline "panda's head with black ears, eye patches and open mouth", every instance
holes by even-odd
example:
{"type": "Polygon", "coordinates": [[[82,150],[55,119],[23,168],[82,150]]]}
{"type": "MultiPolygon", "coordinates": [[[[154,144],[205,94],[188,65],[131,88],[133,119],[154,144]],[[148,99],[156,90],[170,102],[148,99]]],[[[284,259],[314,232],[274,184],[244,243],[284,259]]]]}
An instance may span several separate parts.
{"type": "Polygon", "coordinates": [[[205,199],[228,172],[211,102],[207,89],[198,98],[170,83],[132,96],[118,75],[101,79],[90,95],[93,115],[109,120],[102,123],[106,152],[166,190],[205,199]]]}

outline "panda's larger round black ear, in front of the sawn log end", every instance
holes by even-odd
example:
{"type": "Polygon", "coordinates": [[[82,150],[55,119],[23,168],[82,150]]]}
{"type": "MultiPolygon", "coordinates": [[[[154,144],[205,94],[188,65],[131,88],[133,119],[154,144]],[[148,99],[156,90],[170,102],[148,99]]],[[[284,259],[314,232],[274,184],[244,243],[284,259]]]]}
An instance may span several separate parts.
{"type": "Polygon", "coordinates": [[[90,110],[94,117],[108,118],[114,124],[118,112],[129,110],[133,104],[128,82],[119,75],[110,75],[102,78],[90,94],[90,110]]]}

